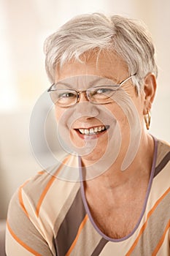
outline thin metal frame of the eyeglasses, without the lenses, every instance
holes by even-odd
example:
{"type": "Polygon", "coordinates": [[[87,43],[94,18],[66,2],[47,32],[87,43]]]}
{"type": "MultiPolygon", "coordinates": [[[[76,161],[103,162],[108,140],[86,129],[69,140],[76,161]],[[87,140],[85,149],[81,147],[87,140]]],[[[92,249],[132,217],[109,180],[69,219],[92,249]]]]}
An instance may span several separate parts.
{"type": "MultiPolygon", "coordinates": [[[[134,75],[136,75],[136,73],[135,73],[134,75]]],[[[115,86],[117,86],[117,89],[119,89],[125,82],[127,82],[129,79],[131,79],[134,75],[130,75],[128,78],[125,78],[125,80],[121,81],[120,83],[115,84],[115,86]]],[[[55,83],[53,83],[53,84],[50,86],[50,88],[47,89],[47,92],[60,91],[60,90],[63,91],[63,89],[55,89],[55,90],[53,90],[52,88],[53,88],[54,85],[55,85],[55,83]]],[[[82,93],[85,93],[86,99],[88,99],[88,101],[91,102],[91,103],[93,103],[93,104],[96,104],[96,105],[109,104],[110,102],[98,103],[98,102],[93,102],[93,101],[91,101],[90,97],[88,96],[88,91],[89,91],[90,89],[95,89],[95,88],[100,88],[100,86],[91,87],[91,88],[88,88],[88,89],[86,89],[86,90],[79,90],[79,91],[77,91],[77,90],[75,90],[75,89],[68,89],[68,91],[75,91],[75,92],[77,93],[76,102],[74,102],[73,104],[63,105],[63,106],[58,104],[58,106],[60,106],[61,108],[68,108],[68,107],[71,107],[71,106],[73,106],[73,105],[76,105],[78,102],[80,102],[80,95],[81,95],[82,93]]],[[[115,91],[117,91],[117,89],[116,89],[115,91]]],[[[52,101],[53,101],[53,100],[52,100],[52,101]]],[[[112,101],[111,101],[111,102],[112,102],[112,101]]],[[[54,102],[53,102],[53,103],[54,103],[54,102]]],[[[57,103],[54,103],[54,104],[57,105],[57,103]]]]}

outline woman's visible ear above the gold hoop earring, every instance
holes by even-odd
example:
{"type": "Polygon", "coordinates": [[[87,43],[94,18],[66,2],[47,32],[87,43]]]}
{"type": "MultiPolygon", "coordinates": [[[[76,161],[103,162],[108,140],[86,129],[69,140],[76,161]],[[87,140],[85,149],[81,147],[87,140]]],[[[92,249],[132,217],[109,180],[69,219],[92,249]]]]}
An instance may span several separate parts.
{"type": "Polygon", "coordinates": [[[155,75],[152,73],[147,74],[147,76],[144,78],[144,115],[146,115],[152,108],[156,87],[157,84],[155,75]]]}

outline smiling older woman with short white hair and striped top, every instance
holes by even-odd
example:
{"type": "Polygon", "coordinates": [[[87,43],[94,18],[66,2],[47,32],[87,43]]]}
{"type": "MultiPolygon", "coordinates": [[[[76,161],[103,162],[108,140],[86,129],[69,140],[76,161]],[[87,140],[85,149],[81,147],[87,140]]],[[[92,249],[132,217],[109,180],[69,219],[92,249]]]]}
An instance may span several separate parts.
{"type": "Polygon", "coordinates": [[[12,197],[7,255],[170,255],[170,148],[147,132],[150,34],[119,15],[80,15],[45,54],[67,156],[12,197]]]}

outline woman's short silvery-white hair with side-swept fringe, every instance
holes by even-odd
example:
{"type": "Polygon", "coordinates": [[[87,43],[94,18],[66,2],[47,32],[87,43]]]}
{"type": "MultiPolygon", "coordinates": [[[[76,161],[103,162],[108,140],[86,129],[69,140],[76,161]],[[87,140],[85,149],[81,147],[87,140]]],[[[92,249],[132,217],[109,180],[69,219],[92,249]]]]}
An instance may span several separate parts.
{"type": "Polygon", "coordinates": [[[80,56],[93,50],[96,54],[101,50],[116,52],[128,65],[129,74],[136,74],[132,80],[138,92],[148,73],[158,75],[155,47],[146,26],[120,15],[78,15],[47,37],[44,49],[45,67],[52,83],[57,66],[61,68],[71,59],[82,61],[80,56]]]}

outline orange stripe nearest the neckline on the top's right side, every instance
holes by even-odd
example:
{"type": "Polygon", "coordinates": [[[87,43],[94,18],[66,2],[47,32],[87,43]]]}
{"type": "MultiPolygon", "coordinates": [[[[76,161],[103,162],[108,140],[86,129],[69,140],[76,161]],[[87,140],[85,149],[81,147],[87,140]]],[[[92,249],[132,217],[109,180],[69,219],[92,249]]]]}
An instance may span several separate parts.
{"type": "Polygon", "coordinates": [[[129,256],[131,255],[131,252],[134,251],[134,248],[136,247],[136,244],[139,241],[140,236],[142,236],[142,233],[144,232],[145,228],[147,227],[147,222],[148,219],[150,218],[150,216],[152,215],[153,211],[155,211],[155,208],[157,208],[158,204],[161,203],[161,200],[163,200],[164,197],[166,197],[166,195],[170,192],[170,188],[166,190],[166,192],[156,201],[155,205],[152,207],[152,209],[148,212],[147,214],[147,220],[146,222],[144,222],[144,225],[142,226],[139,235],[137,236],[136,240],[134,241],[134,244],[131,246],[131,248],[129,249],[129,251],[127,252],[127,254],[125,256],[129,256]]]}

